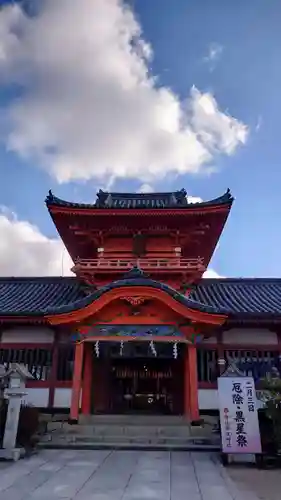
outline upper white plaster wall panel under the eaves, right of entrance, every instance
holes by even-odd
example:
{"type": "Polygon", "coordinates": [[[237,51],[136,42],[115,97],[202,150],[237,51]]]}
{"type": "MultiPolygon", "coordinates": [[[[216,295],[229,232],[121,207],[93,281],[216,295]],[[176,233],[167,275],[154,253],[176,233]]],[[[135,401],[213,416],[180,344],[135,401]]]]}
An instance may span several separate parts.
{"type": "Polygon", "coordinates": [[[278,344],[277,334],[266,328],[232,328],[223,332],[222,341],[224,344],[278,344]]]}

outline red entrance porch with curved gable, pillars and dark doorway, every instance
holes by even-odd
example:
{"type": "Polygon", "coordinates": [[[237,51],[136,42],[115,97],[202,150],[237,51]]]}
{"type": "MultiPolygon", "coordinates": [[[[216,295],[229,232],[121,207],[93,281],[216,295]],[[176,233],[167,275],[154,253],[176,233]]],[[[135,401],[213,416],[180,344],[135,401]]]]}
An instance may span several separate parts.
{"type": "Polygon", "coordinates": [[[48,316],[51,325],[75,332],[70,421],[78,422],[79,413],[198,421],[197,341],[226,320],[200,307],[133,269],[73,311],[48,316]]]}

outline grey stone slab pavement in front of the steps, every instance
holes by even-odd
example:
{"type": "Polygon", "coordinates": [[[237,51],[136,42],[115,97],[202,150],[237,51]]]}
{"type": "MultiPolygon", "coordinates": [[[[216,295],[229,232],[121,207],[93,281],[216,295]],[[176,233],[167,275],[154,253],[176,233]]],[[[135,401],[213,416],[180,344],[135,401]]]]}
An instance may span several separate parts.
{"type": "Polygon", "coordinates": [[[209,453],[42,450],[0,464],[1,500],[256,500],[209,453]]]}

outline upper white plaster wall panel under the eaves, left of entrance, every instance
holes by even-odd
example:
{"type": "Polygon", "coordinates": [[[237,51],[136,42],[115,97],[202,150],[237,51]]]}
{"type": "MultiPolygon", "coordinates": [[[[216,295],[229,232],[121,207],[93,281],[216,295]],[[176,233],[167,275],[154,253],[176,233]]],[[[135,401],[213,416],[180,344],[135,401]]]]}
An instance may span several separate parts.
{"type": "Polygon", "coordinates": [[[54,340],[54,332],[50,328],[44,327],[20,327],[11,328],[2,332],[2,343],[52,343],[54,340]]]}

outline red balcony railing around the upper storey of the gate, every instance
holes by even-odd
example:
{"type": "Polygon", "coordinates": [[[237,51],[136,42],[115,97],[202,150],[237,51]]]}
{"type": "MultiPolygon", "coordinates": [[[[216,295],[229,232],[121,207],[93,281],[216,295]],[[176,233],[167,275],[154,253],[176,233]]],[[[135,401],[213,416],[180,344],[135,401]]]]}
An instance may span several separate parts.
{"type": "Polygon", "coordinates": [[[79,259],[77,260],[73,270],[79,271],[123,271],[130,270],[132,267],[138,266],[143,270],[162,269],[170,271],[171,269],[187,270],[187,271],[204,271],[204,259],[198,257],[196,259],[79,259]]]}

